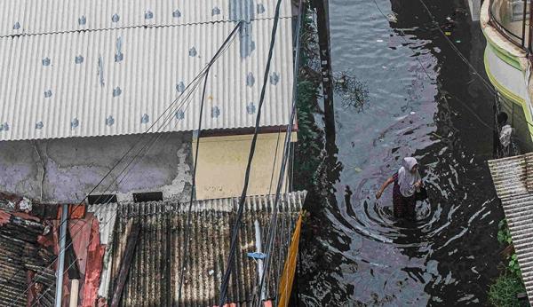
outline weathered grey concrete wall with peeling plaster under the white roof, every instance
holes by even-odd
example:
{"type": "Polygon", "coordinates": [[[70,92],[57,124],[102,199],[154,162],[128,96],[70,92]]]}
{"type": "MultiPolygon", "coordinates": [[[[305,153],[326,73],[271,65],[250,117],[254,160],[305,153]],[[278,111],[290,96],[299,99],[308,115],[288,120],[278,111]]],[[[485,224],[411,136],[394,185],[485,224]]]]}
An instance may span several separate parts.
{"type": "Polygon", "coordinates": [[[134,146],[94,193],[115,193],[119,201],[131,200],[136,192],[186,197],[182,193],[191,183],[191,138],[190,133],[170,132],[0,142],[0,190],[42,201],[82,201],[134,146]],[[153,146],[131,163],[153,137],[153,146]]]}

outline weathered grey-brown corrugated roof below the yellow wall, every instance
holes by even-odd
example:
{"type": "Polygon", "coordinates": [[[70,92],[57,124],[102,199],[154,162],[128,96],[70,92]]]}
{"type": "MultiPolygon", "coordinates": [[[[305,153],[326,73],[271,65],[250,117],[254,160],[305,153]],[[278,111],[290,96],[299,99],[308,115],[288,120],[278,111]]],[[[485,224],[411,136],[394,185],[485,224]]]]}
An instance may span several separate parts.
{"type": "MultiPolygon", "coordinates": [[[[274,246],[274,270],[269,280],[268,298],[276,295],[277,279],[282,271],[291,233],[306,192],[282,195],[279,206],[278,238],[274,246]]],[[[235,222],[237,198],[195,201],[190,233],[191,263],[187,267],[182,305],[214,306],[229,249],[231,226],[235,222]]],[[[247,256],[255,252],[255,220],[259,221],[263,242],[273,208],[274,195],[250,196],[246,201],[241,228],[236,269],[230,282],[228,302],[246,305],[253,295],[257,264],[247,256]]],[[[126,245],[126,225],[136,220],[141,226],[140,239],[124,287],[123,306],[171,306],[178,304],[179,272],[188,204],[173,202],[131,203],[118,205],[115,236],[111,243],[110,280],[115,280],[126,245]]],[[[111,212],[111,211],[108,211],[111,212]]],[[[111,219],[109,216],[107,219],[111,219]]],[[[106,283],[106,280],[102,280],[106,283]]],[[[101,287],[112,285],[101,285],[101,287]]],[[[100,288],[101,288],[100,287],[100,288]]]]}

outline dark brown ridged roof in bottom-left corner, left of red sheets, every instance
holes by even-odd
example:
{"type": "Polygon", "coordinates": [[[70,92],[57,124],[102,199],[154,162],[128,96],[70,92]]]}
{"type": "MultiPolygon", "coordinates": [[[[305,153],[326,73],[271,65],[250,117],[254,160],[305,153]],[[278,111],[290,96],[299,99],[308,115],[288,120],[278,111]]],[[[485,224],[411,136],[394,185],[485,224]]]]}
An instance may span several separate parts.
{"type": "Polygon", "coordinates": [[[53,306],[55,272],[48,269],[54,255],[37,242],[44,225],[18,216],[0,224],[0,305],[28,306],[28,292],[40,297],[40,306],[53,306]],[[28,278],[31,277],[31,278],[28,278]],[[35,282],[35,283],[34,283],[35,282]],[[28,286],[31,287],[28,291],[28,286]],[[36,293],[36,285],[40,293],[36,293]]]}

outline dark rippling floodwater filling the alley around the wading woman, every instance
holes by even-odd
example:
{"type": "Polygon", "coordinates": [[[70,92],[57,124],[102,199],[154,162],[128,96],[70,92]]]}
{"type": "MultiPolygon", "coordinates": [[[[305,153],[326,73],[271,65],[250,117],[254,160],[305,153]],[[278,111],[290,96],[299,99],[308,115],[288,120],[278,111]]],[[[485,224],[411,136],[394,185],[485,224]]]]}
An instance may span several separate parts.
{"type": "MultiPolygon", "coordinates": [[[[425,1],[440,23],[457,21],[450,38],[486,78],[481,30],[456,12],[463,1],[425,1]]],[[[385,14],[397,13],[397,22],[385,20],[372,0],[330,0],[333,70],[358,76],[370,101],[362,112],[337,103],[336,130],[324,131],[327,170],[306,201],[299,303],[486,304],[503,215],[486,163],[493,98],[418,0],[377,2],[385,14]],[[392,188],[374,198],[406,155],[418,158],[428,186],[416,224],[394,220],[392,188]]]]}

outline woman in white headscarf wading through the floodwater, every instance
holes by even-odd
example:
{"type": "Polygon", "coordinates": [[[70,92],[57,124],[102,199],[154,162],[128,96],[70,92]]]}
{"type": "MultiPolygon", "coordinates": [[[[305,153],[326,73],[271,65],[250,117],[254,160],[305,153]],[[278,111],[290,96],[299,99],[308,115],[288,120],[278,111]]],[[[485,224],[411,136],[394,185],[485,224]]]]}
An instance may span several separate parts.
{"type": "Polygon", "coordinates": [[[403,158],[402,168],[393,177],[386,179],[381,185],[376,199],[379,199],[386,187],[394,182],[393,204],[394,217],[406,217],[415,219],[415,207],[417,205],[417,193],[422,189],[422,178],[418,173],[418,161],[415,158],[403,158]]]}

